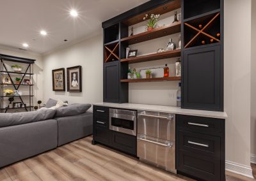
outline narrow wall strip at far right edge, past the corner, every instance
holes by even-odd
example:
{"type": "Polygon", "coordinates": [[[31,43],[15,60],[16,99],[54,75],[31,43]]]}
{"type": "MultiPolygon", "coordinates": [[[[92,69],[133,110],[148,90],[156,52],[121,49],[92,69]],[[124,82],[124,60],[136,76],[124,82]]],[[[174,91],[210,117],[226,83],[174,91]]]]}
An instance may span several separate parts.
{"type": "Polygon", "coordinates": [[[252,1],[251,154],[256,155],[256,1],[252,1]]]}

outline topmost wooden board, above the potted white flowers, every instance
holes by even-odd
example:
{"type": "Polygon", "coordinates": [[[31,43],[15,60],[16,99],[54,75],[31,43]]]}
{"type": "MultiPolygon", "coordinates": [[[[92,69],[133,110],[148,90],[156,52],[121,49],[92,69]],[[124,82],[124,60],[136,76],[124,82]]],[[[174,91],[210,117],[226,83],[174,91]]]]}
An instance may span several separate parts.
{"type": "Polygon", "coordinates": [[[163,15],[164,13],[168,13],[170,11],[177,10],[180,7],[181,7],[180,0],[173,0],[170,3],[166,3],[161,6],[158,6],[157,8],[154,8],[153,10],[145,11],[144,13],[141,13],[140,15],[136,15],[127,20],[124,20],[123,23],[128,26],[138,24],[138,23],[144,21],[143,17],[145,17],[145,14],[163,15]]]}

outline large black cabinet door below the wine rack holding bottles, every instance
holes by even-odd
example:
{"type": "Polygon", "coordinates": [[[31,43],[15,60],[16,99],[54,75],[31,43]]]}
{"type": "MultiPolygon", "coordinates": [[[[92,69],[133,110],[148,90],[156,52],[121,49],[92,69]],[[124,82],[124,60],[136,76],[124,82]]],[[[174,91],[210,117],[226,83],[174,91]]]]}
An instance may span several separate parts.
{"type": "Polygon", "coordinates": [[[223,111],[220,45],[183,52],[182,108],[223,111]]]}

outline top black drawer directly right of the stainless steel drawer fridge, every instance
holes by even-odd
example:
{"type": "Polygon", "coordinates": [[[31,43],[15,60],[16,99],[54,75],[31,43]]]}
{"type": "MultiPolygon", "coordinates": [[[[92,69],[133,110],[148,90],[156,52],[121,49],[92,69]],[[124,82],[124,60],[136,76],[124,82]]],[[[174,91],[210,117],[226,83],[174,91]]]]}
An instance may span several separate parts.
{"type": "Polygon", "coordinates": [[[179,129],[189,129],[200,133],[220,134],[224,121],[222,119],[214,119],[208,117],[195,117],[188,115],[177,115],[179,122],[179,129]]]}

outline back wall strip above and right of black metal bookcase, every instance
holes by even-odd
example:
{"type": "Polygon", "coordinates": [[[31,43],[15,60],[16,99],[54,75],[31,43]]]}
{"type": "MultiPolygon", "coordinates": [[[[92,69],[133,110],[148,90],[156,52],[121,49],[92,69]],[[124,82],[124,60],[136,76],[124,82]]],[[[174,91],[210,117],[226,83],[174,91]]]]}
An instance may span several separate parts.
{"type": "MultiPolygon", "coordinates": [[[[0,54],[6,54],[6,55],[12,55],[16,57],[24,57],[28,59],[35,59],[35,64],[34,64],[34,73],[35,75],[33,76],[33,83],[35,84],[34,86],[34,105],[38,100],[43,99],[43,62],[42,62],[42,55],[40,54],[35,54],[32,52],[24,51],[24,50],[19,50],[17,48],[10,48],[10,47],[0,47],[0,54]]],[[[22,87],[20,87],[22,89],[22,87]]],[[[24,88],[25,89],[25,88],[24,88]]],[[[27,89],[28,90],[28,89],[27,89]]],[[[23,89],[22,89],[23,91],[23,89]]],[[[26,91],[26,90],[24,90],[26,91]]]]}

